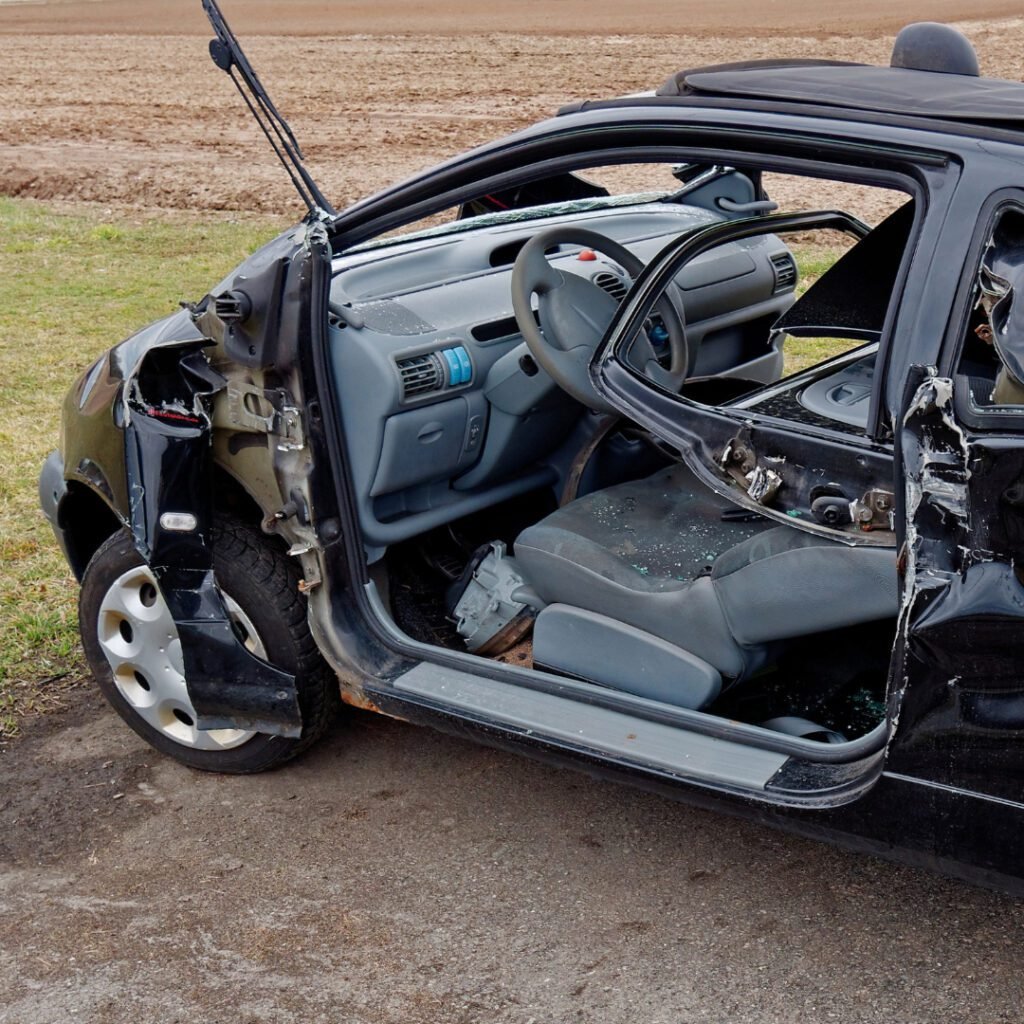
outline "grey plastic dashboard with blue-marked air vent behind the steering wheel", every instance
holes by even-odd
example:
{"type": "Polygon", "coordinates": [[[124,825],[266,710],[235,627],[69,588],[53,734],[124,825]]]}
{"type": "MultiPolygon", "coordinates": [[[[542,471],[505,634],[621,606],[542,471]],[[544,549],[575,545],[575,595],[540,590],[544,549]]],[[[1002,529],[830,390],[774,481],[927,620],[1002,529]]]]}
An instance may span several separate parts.
{"type": "MultiPolygon", "coordinates": [[[[512,265],[536,231],[583,224],[646,262],[681,232],[723,219],[663,202],[550,214],[461,221],[451,233],[335,258],[330,355],[371,549],[557,481],[550,457],[583,410],[534,364],[512,314],[512,265]]],[[[563,246],[549,258],[616,298],[630,285],[600,253],[581,259],[579,247],[563,246]]],[[[770,234],[688,264],[676,286],[694,372],[777,378],[769,328],[796,279],[792,255],[770,234]]]]}

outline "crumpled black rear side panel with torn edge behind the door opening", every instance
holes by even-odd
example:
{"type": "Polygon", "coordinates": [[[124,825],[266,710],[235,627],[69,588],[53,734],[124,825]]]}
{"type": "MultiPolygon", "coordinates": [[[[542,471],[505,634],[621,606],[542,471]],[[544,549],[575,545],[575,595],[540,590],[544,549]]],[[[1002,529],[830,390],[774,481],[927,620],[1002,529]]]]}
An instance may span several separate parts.
{"type": "Polygon", "coordinates": [[[907,541],[893,770],[1019,800],[1024,757],[1024,451],[973,437],[952,381],[924,371],[901,442],[907,541]]]}

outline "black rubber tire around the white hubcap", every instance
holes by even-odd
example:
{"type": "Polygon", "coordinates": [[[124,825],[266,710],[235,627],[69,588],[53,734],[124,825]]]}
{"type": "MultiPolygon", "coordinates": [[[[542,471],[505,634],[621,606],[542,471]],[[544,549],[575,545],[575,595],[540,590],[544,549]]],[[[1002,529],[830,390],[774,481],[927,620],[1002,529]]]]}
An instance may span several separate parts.
{"type": "Polygon", "coordinates": [[[217,583],[255,627],[267,660],[295,675],[302,735],[290,738],[256,733],[237,746],[198,750],[145,721],[114,681],[100,646],[99,617],[104,597],[116,581],[143,564],[128,530],[119,530],[89,561],[79,597],[79,629],[89,667],[103,696],[135,732],[189,768],[232,774],[274,768],[319,739],[341,701],[337,677],[325,663],[306,623],[298,567],[261,534],[228,519],[218,520],[213,531],[217,583]]]}

